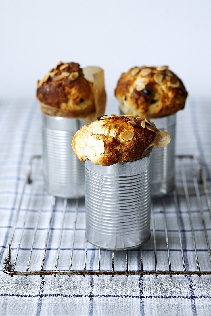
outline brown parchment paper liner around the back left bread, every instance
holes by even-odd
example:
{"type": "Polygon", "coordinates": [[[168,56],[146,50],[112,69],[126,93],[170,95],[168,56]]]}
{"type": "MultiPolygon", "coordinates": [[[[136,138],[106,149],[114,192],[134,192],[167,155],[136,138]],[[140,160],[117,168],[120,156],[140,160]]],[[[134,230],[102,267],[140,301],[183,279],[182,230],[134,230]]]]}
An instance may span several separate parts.
{"type": "Polygon", "coordinates": [[[95,112],[89,113],[88,115],[79,115],[75,116],[71,112],[71,110],[61,110],[54,106],[50,106],[40,103],[40,112],[43,114],[51,115],[51,116],[60,116],[65,118],[77,118],[85,123],[90,123],[98,116],[102,116],[105,112],[106,106],[106,92],[105,92],[105,84],[104,84],[104,70],[100,67],[89,66],[82,69],[84,73],[84,77],[86,80],[93,82],[93,94],[94,94],[94,102],[95,102],[95,112]]]}

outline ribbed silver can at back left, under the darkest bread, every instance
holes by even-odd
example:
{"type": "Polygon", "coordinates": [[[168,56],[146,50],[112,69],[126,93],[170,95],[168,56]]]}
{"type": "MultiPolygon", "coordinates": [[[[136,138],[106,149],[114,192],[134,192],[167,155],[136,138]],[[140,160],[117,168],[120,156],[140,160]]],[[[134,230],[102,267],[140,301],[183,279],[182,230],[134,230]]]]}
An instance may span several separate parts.
{"type": "Polygon", "coordinates": [[[75,118],[42,114],[42,144],[46,190],[58,197],[85,195],[84,163],[71,147],[72,137],[84,123],[75,118]]]}

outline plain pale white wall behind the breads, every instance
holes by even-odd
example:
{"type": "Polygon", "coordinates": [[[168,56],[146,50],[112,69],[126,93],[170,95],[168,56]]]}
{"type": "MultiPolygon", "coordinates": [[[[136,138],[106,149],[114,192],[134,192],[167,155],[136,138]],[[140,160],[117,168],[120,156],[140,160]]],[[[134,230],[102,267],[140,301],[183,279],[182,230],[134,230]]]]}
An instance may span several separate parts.
{"type": "Polygon", "coordinates": [[[209,0],[3,0],[0,97],[34,98],[62,60],[103,67],[109,104],[121,72],[143,64],[169,65],[191,98],[209,99],[210,38],[209,0]]]}

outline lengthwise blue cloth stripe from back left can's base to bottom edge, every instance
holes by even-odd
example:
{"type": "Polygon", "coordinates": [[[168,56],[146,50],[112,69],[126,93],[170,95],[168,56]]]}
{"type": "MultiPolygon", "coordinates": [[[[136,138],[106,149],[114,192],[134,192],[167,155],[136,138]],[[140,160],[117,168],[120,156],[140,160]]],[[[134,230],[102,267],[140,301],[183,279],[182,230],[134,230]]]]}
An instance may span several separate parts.
{"type": "MultiPolygon", "coordinates": [[[[55,213],[56,203],[57,203],[57,199],[56,199],[56,202],[55,202],[55,205],[54,205],[53,215],[55,213]]],[[[54,225],[54,221],[55,221],[55,218],[53,216],[52,217],[52,221],[51,221],[51,225],[52,226],[54,225]]],[[[53,237],[53,231],[50,230],[50,234],[49,234],[49,238],[48,238],[48,246],[50,246],[50,247],[51,247],[51,243],[52,243],[52,237],[53,237]]],[[[51,248],[47,248],[47,250],[46,250],[46,257],[45,257],[43,270],[45,270],[45,268],[46,268],[46,264],[47,264],[47,261],[48,261],[48,258],[49,258],[49,250],[50,249],[51,248]]],[[[40,316],[40,313],[41,313],[44,287],[45,287],[45,276],[41,276],[40,293],[39,293],[39,299],[38,299],[38,302],[37,302],[36,316],[40,316]]]]}

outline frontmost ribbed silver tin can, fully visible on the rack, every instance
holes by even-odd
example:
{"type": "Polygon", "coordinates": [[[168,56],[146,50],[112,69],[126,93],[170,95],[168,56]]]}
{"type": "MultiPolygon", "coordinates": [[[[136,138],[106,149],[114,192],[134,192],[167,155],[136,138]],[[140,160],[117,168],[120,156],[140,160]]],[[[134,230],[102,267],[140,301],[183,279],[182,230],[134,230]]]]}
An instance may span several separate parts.
{"type": "Polygon", "coordinates": [[[86,238],[100,248],[137,248],[150,237],[151,154],[98,166],[85,161],[86,238]]]}

